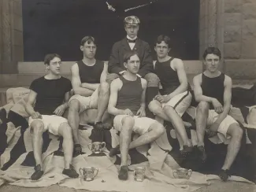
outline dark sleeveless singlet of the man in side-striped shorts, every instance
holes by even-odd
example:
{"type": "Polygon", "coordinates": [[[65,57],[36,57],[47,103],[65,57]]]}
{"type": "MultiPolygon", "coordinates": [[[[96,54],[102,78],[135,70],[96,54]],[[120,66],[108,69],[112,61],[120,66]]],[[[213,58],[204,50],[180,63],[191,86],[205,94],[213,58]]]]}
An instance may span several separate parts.
{"type": "Polygon", "coordinates": [[[180,86],[180,80],[176,71],[171,68],[171,61],[174,57],[171,57],[168,61],[155,63],[154,72],[159,77],[161,81],[160,90],[161,94],[170,94],[173,90],[176,90],[180,86]]]}

